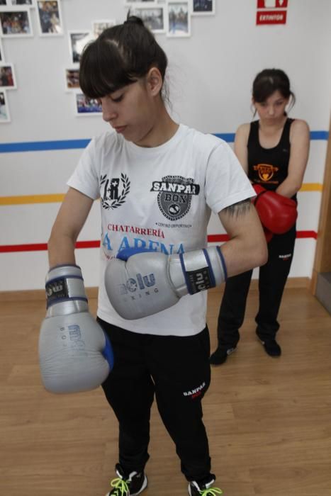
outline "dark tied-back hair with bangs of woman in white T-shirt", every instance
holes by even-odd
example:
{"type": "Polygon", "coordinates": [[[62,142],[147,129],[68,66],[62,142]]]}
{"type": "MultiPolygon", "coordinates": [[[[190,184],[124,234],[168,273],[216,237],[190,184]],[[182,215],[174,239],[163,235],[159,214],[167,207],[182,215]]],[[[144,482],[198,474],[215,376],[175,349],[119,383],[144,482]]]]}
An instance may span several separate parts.
{"type": "Polygon", "coordinates": [[[89,98],[101,98],[144,77],[157,67],[164,81],[167,55],[142,20],[128,15],[84,47],[79,86],[89,98]]]}

